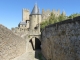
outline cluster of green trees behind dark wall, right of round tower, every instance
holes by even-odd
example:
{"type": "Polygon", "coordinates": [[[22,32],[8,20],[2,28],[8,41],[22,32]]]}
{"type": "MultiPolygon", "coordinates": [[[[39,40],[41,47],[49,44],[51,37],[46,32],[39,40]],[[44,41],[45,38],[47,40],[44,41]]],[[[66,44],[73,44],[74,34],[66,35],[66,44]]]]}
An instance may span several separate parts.
{"type": "Polygon", "coordinates": [[[65,19],[66,19],[66,16],[64,16],[63,13],[59,17],[55,17],[55,14],[51,13],[50,17],[46,19],[45,22],[41,23],[41,30],[47,25],[54,24],[54,23],[63,21],[65,19]]]}

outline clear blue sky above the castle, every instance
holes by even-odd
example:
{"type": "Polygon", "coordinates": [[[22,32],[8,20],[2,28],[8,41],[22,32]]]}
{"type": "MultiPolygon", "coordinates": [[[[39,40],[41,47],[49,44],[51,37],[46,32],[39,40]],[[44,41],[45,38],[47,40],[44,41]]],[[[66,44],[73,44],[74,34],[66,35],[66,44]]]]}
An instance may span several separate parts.
{"type": "Polygon", "coordinates": [[[0,0],[0,24],[11,29],[22,20],[22,9],[32,11],[37,3],[40,10],[54,9],[65,11],[66,15],[80,13],[80,0],[0,0]]]}

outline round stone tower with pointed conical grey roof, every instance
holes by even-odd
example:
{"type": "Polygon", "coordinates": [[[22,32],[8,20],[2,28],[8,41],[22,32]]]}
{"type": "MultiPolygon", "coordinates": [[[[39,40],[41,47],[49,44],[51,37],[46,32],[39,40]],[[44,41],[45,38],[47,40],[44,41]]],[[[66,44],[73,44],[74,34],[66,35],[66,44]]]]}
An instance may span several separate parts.
{"type": "Polygon", "coordinates": [[[37,4],[35,4],[30,14],[30,31],[40,32],[40,22],[41,22],[41,14],[39,13],[39,8],[37,4]]]}

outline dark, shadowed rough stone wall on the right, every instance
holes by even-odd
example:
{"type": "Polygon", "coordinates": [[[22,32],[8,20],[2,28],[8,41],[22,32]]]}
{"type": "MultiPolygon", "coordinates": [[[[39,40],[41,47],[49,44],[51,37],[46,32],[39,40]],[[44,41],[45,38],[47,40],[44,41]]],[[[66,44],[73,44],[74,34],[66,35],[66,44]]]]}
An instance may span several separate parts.
{"type": "Polygon", "coordinates": [[[80,60],[80,16],[45,27],[41,37],[47,60],[80,60]]]}

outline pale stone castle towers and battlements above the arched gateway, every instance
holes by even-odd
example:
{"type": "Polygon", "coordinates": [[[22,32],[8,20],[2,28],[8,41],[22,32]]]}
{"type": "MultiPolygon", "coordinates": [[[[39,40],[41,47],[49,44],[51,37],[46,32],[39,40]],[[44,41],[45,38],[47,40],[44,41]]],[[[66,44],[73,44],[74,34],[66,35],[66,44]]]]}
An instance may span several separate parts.
{"type": "MultiPolygon", "coordinates": [[[[32,12],[26,8],[22,9],[22,21],[18,24],[18,27],[12,28],[12,31],[15,33],[27,33],[30,34],[40,34],[40,23],[48,20],[49,16],[53,13],[55,17],[60,16],[60,10],[44,10],[40,14],[37,4],[34,5],[32,12]]],[[[63,15],[66,15],[65,12],[62,12],[63,15]]]]}

